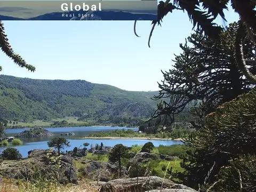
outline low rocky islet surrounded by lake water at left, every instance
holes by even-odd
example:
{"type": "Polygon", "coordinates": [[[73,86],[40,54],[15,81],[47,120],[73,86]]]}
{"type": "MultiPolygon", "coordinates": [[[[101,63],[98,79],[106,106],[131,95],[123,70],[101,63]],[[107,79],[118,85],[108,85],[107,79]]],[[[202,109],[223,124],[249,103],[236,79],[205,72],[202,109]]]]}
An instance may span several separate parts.
{"type": "Polygon", "coordinates": [[[17,138],[51,137],[53,133],[43,128],[34,128],[18,133],[17,138]]]}

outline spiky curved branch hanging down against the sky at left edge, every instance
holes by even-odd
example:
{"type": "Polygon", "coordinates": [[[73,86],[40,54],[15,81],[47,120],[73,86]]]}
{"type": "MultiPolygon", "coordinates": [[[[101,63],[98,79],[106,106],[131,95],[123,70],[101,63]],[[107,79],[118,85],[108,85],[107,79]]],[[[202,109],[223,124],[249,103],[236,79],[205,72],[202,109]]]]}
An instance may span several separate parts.
{"type": "MultiPolygon", "coordinates": [[[[20,67],[25,67],[26,69],[30,71],[35,71],[36,68],[32,65],[28,65],[25,60],[23,60],[19,54],[16,54],[13,52],[11,45],[9,44],[9,39],[7,38],[7,35],[4,32],[4,25],[3,22],[0,21],[0,47],[2,51],[11,58],[14,63],[16,63],[20,67]]],[[[0,68],[2,70],[2,68],[0,68]]]]}

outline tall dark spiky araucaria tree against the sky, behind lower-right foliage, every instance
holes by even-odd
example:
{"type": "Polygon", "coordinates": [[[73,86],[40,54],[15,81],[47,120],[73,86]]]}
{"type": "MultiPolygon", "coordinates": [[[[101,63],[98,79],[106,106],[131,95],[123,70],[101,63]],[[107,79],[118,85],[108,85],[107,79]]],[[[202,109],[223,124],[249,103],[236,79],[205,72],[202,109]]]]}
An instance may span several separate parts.
{"type": "MultiPolygon", "coordinates": [[[[255,86],[244,78],[236,64],[234,43],[237,26],[238,23],[231,23],[227,30],[223,30],[219,43],[195,33],[186,39],[185,45],[180,44],[183,52],[173,60],[173,69],[162,71],[164,81],[158,83],[161,91],[154,98],[170,98],[170,101],[158,103],[152,118],[161,117],[162,124],[163,121],[173,121],[175,115],[190,105],[190,112],[200,119],[255,86]],[[199,107],[198,102],[201,102],[199,107]]],[[[253,74],[256,74],[255,49],[256,45],[245,39],[244,59],[253,74]]],[[[202,126],[200,121],[192,123],[197,129],[202,126]]]]}

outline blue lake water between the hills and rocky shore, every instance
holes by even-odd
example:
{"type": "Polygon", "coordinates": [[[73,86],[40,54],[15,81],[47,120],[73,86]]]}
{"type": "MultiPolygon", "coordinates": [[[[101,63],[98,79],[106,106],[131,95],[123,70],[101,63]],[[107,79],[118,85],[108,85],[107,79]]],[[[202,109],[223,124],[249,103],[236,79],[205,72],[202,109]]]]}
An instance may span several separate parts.
{"type": "MultiPolygon", "coordinates": [[[[15,146],[23,157],[28,156],[28,151],[32,149],[47,149],[47,141],[51,140],[54,137],[60,136],[60,133],[73,132],[75,135],[62,136],[67,138],[70,141],[71,147],[65,148],[65,150],[72,150],[74,147],[83,146],[83,143],[88,142],[90,145],[95,146],[97,143],[101,142],[105,146],[115,146],[116,144],[122,143],[124,146],[131,147],[132,145],[144,145],[146,142],[153,142],[154,146],[158,147],[159,145],[174,145],[182,144],[181,141],[170,141],[170,140],[142,140],[142,139],[76,139],[79,137],[86,137],[92,133],[97,132],[109,132],[116,129],[132,129],[138,131],[138,128],[129,128],[129,127],[56,127],[56,128],[45,128],[46,130],[54,134],[53,137],[44,137],[44,138],[20,138],[23,141],[22,146],[15,146]]],[[[18,133],[30,130],[30,129],[6,129],[7,137],[12,137],[18,133]]],[[[90,146],[89,146],[90,148],[90,146]]]]}

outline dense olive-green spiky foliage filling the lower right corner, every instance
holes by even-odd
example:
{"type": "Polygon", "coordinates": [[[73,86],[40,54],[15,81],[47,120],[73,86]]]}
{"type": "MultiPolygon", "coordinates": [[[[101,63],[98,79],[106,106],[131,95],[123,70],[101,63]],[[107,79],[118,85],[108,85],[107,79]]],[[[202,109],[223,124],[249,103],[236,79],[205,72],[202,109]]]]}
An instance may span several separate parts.
{"type": "MultiPolygon", "coordinates": [[[[254,174],[255,169],[251,166],[254,160],[252,157],[250,160],[248,156],[256,153],[255,105],[256,89],[253,89],[249,93],[224,103],[217,108],[215,113],[203,119],[205,126],[185,140],[186,146],[195,148],[194,153],[187,151],[187,156],[181,157],[183,159],[181,167],[186,170],[186,174],[180,174],[178,178],[185,185],[197,188],[198,184],[210,185],[217,181],[219,173],[222,177],[225,174],[234,174],[234,172],[220,172],[220,170],[221,167],[228,165],[236,170],[235,166],[239,165],[230,164],[230,160],[235,161],[236,158],[238,160],[235,162],[243,162],[241,166],[245,167],[244,171],[247,171],[247,175],[254,174]]],[[[250,177],[248,182],[252,183],[251,179],[250,177]]],[[[228,180],[226,181],[229,183],[228,180]]],[[[220,188],[222,190],[218,188],[217,191],[223,191],[225,186],[220,188]]],[[[233,186],[226,186],[226,189],[235,190],[233,186]]],[[[250,190],[252,191],[252,188],[250,190]]]]}

